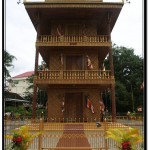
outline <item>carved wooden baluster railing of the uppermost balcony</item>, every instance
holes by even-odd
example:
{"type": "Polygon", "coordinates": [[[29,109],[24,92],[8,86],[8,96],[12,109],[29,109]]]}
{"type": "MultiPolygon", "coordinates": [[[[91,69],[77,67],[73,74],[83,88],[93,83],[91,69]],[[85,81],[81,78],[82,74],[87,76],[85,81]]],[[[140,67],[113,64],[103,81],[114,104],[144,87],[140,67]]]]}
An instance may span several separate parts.
{"type": "Polygon", "coordinates": [[[83,35],[62,35],[62,36],[55,36],[55,35],[41,35],[40,38],[37,40],[38,44],[64,44],[64,45],[77,45],[77,44],[96,44],[96,43],[110,43],[110,38],[108,35],[93,35],[93,36],[83,36],[83,35]]]}

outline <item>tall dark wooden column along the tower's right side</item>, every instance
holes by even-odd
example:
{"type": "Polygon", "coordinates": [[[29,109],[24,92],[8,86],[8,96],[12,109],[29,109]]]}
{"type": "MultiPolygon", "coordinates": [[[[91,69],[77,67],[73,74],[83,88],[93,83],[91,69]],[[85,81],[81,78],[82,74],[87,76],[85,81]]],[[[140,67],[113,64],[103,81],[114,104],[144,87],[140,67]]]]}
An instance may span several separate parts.
{"type": "MultiPolygon", "coordinates": [[[[108,35],[109,41],[111,42],[111,14],[108,12],[108,35]]],[[[112,46],[109,47],[109,66],[111,70],[111,78],[114,79],[114,66],[113,66],[113,56],[112,56],[112,46]]],[[[112,100],[112,121],[116,121],[116,100],[115,100],[115,83],[111,84],[111,100],[112,100]]]]}

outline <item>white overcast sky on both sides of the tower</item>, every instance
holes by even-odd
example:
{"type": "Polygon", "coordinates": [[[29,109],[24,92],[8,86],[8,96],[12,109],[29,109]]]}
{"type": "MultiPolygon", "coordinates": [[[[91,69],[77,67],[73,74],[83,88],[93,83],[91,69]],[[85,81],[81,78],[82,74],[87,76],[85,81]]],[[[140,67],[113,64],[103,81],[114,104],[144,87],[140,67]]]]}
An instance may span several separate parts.
{"type": "MultiPolygon", "coordinates": [[[[35,66],[36,30],[19,0],[6,1],[5,14],[5,49],[14,55],[14,68],[10,69],[11,76],[27,71],[33,71],[35,66]]],[[[109,0],[105,0],[109,1],[109,0]]],[[[116,1],[116,0],[112,0],[116,1]]],[[[130,0],[121,10],[112,31],[112,42],[118,46],[133,48],[136,55],[143,54],[142,38],[142,0],[130,0]]],[[[39,64],[42,58],[39,59],[39,64]]]]}

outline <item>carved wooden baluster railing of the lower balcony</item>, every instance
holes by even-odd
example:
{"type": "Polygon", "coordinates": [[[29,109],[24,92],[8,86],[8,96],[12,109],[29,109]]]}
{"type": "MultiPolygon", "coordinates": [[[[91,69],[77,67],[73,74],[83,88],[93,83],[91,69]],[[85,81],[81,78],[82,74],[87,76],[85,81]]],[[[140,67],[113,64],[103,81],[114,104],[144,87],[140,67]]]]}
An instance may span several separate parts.
{"type": "Polygon", "coordinates": [[[35,79],[38,80],[44,80],[44,79],[50,79],[50,80],[84,80],[84,79],[111,79],[111,71],[99,71],[99,70],[55,70],[55,71],[38,71],[38,75],[35,76],[35,79]]]}

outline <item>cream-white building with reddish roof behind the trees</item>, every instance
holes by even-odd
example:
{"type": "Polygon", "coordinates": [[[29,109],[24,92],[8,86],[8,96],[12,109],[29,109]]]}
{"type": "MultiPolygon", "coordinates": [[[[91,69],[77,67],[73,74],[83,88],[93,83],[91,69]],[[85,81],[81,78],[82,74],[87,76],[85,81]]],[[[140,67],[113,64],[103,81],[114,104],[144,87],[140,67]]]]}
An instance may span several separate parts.
{"type": "MultiPolygon", "coordinates": [[[[28,71],[28,72],[24,72],[22,74],[12,77],[11,82],[9,82],[9,87],[8,87],[9,91],[12,93],[17,93],[23,97],[24,93],[26,92],[26,89],[30,85],[30,83],[27,82],[26,79],[32,76],[33,74],[34,74],[34,71],[28,71]]],[[[33,89],[30,89],[28,91],[32,93],[33,89]]]]}

